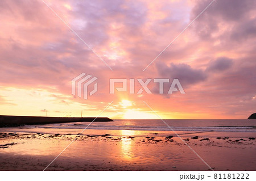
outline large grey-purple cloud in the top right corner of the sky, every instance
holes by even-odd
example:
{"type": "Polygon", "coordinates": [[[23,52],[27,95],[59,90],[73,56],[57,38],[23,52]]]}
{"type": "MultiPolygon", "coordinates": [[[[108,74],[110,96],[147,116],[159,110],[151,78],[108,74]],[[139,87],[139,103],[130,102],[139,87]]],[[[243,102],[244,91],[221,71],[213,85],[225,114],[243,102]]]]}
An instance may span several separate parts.
{"type": "MultiPolygon", "coordinates": [[[[208,0],[197,1],[191,11],[191,19],[199,15],[209,3],[208,0]]],[[[232,43],[236,39],[247,39],[255,30],[255,6],[256,2],[251,0],[215,1],[197,19],[193,29],[203,41],[218,39],[232,43]]]]}

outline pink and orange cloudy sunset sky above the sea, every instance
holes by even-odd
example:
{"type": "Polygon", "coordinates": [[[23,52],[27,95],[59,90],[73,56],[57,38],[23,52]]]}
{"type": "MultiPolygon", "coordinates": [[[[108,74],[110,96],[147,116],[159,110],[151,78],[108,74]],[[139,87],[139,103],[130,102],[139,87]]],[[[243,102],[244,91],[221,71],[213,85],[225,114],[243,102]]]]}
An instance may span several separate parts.
{"type": "Polygon", "coordinates": [[[247,119],[256,112],[255,1],[216,0],[184,32],[212,1],[44,2],[0,1],[0,115],[96,117],[111,102],[100,116],[247,119]],[[98,78],[87,100],[71,94],[81,73],[98,78]],[[109,94],[110,78],[127,79],[128,90],[135,79],[135,94],[109,94]],[[137,94],[137,79],[148,78],[152,94],[137,94]],[[154,78],[170,79],[164,94],[154,78]],[[185,94],[167,94],[173,79],[185,94]]]}

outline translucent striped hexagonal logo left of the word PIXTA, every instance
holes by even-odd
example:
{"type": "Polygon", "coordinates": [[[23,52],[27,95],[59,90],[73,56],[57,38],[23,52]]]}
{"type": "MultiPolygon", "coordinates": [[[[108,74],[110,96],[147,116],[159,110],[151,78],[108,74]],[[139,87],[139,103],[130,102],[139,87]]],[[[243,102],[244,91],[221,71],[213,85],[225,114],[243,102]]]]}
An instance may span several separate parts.
{"type": "MultiPolygon", "coordinates": [[[[96,81],[97,77],[92,77],[92,75],[86,75],[85,73],[81,73],[77,77],[72,79],[72,94],[76,95],[76,86],[77,86],[77,96],[82,98],[82,90],[84,90],[83,98],[88,99],[88,86],[96,81]],[[89,81],[88,79],[91,78],[89,81]]],[[[93,95],[98,90],[97,82],[94,83],[94,89],[89,92],[89,96],[93,95]]]]}

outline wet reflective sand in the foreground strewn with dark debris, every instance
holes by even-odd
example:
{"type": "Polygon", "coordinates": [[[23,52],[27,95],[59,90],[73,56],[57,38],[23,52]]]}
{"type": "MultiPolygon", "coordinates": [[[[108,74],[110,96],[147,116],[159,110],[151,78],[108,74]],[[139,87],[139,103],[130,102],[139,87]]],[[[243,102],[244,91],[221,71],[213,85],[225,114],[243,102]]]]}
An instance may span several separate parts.
{"type": "MultiPolygon", "coordinates": [[[[209,170],[174,134],[152,134],[82,134],[47,170],[209,170]]],[[[44,170],[76,136],[2,132],[0,170],[44,170]]],[[[256,170],[254,137],[207,137],[194,133],[185,134],[182,139],[213,170],[256,170]]]]}

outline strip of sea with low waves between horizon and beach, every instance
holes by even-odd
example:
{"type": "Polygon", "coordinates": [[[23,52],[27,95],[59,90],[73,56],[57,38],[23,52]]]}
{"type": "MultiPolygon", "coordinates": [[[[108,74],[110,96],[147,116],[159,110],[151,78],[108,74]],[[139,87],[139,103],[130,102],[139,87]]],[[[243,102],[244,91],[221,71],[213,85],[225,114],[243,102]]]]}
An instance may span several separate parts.
{"type": "MultiPolygon", "coordinates": [[[[239,132],[248,135],[256,134],[256,120],[244,119],[169,119],[164,120],[175,132],[188,133],[216,133],[239,132]]],[[[71,133],[77,134],[88,127],[89,122],[24,125],[11,128],[15,132],[30,133],[71,133]]],[[[0,131],[10,131],[10,128],[1,128],[0,131]]],[[[111,134],[112,136],[168,136],[172,130],[162,120],[127,120],[114,119],[113,122],[93,122],[83,134],[111,134]]],[[[173,133],[173,132],[172,132],[173,133]]]]}

